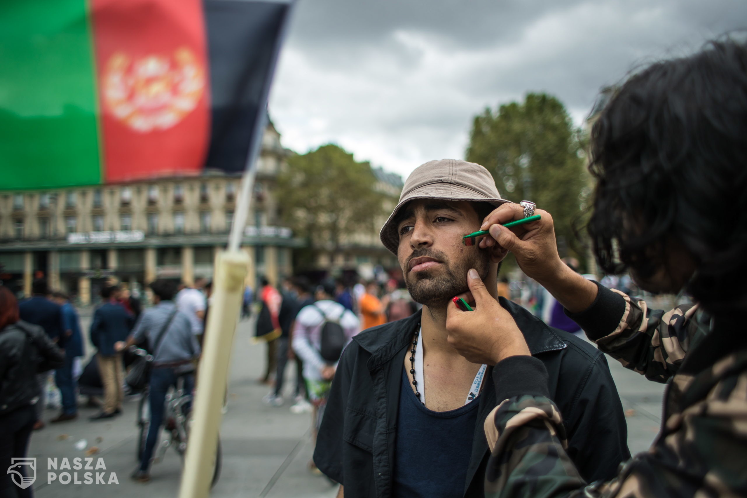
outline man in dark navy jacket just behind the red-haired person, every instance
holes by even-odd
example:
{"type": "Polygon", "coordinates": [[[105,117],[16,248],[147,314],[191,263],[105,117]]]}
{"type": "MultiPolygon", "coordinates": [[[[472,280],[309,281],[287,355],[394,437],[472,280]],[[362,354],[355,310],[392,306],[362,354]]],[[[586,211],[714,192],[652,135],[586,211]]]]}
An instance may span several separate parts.
{"type": "MultiPolygon", "coordinates": [[[[43,278],[37,278],[31,283],[31,298],[19,304],[19,316],[24,322],[39,325],[43,328],[52,342],[58,347],[65,348],[65,336],[63,333],[62,309],[59,304],[49,301],[49,285],[43,278]]],[[[47,388],[51,372],[42,372],[37,376],[41,390],[37,408],[37,423],[34,430],[44,427],[42,416],[46,408],[47,388]]]]}

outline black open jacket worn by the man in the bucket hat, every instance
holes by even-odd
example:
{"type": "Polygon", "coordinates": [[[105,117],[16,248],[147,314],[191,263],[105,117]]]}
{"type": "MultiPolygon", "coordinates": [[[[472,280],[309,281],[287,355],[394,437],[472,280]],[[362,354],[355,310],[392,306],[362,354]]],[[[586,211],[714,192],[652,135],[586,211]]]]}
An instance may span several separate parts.
{"type": "MultiPolygon", "coordinates": [[[[518,304],[503,298],[500,304],[524,333],[532,355],[548,369],[551,398],[565,416],[568,455],[580,473],[589,481],[615,476],[630,452],[622,405],[604,354],[571,333],[548,327],[518,304]]],[[[391,497],[403,362],[420,317],[418,312],[362,332],[342,354],[314,463],[344,485],[346,497],[391,497]]],[[[495,399],[492,368],[488,372],[478,398],[465,497],[484,497],[489,449],[483,424],[502,401],[495,399]]]]}

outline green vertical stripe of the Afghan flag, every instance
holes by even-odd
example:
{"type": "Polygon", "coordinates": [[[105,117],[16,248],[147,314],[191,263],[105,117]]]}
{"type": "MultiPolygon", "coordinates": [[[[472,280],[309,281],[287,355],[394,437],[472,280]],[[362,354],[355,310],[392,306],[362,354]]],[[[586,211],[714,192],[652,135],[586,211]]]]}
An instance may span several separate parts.
{"type": "Polygon", "coordinates": [[[102,181],[85,0],[0,3],[0,189],[102,181]]]}

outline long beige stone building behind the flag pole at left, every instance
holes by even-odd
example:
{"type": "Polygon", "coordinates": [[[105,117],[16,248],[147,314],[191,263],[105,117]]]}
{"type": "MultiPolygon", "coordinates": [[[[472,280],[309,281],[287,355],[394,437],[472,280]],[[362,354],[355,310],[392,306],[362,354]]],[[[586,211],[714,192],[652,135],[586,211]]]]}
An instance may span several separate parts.
{"type": "MultiPolygon", "coordinates": [[[[249,285],[293,272],[300,244],[278,226],[273,185],[288,151],[270,123],[263,137],[242,247],[249,251],[249,285]]],[[[54,289],[95,300],[106,280],[143,289],[159,277],[191,283],[210,278],[226,247],[241,176],[205,171],[117,185],[0,192],[0,280],[29,295],[34,277],[54,289]]]]}

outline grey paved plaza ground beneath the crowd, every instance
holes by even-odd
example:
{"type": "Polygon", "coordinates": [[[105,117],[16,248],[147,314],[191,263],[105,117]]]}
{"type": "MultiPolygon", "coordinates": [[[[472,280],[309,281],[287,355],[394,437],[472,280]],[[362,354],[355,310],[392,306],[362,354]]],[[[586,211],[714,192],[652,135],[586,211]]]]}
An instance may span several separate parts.
{"type": "MultiPolygon", "coordinates": [[[[84,317],[84,330],[90,319],[84,317]]],[[[307,470],[312,447],[309,442],[308,414],[291,414],[286,401],[281,408],[261,402],[267,387],[257,383],[264,368],[264,345],[250,345],[251,323],[241,322],[235,342],[235,352],[229,379],[229,410],[223,417],[220,431],[223,441],[223,470],[211,497],[321,498],[334,497],[336,487],[323,477],[307,470]]],[[[89,349],[90,351],[90,349],[89,349]]],[[[651,444],[660,422],[663,385],[646,381],[627,371],[608,357],[624,409],[627,413],[628,442],[631,452],[642,451],[651,444]]],[[[290,376],[292,372],[288,372],[290,376]]],[[[288,383],[290,384],[290,383],[288,383]]],[[[288,386],[290,388],[290,386],[288,386]]],[[[137,466],[135,446],[137,399],[126,399],[124,414],[116,419],[90,422],[94,408],[81,408],[72,422],[47,425],[34,432],[28,456],[37,457],[37,481],[34,491],[38,498],[120,498],[176,497],[179,491],[180,460],[169,449],[163,461],[152,467],[152,482],[146,485],[131,482],[129,474],[137,466]],[[86,440],[85,449],[75,444],[86,440]],[[91,455],[101,457],[106,465],[105,480],[117,474],[119,485],[47,484],[47,458],[72,458],[91,455]]],[[[46,419],[56,411],[47,410],[46,419]]],[[[80,443],[82,446],[82,443],[80,443]]],[[[94,465],[96,459],[94,459],[94,465]]],[[[81,477],[79,479],[82,480],[81,477]]]]}

